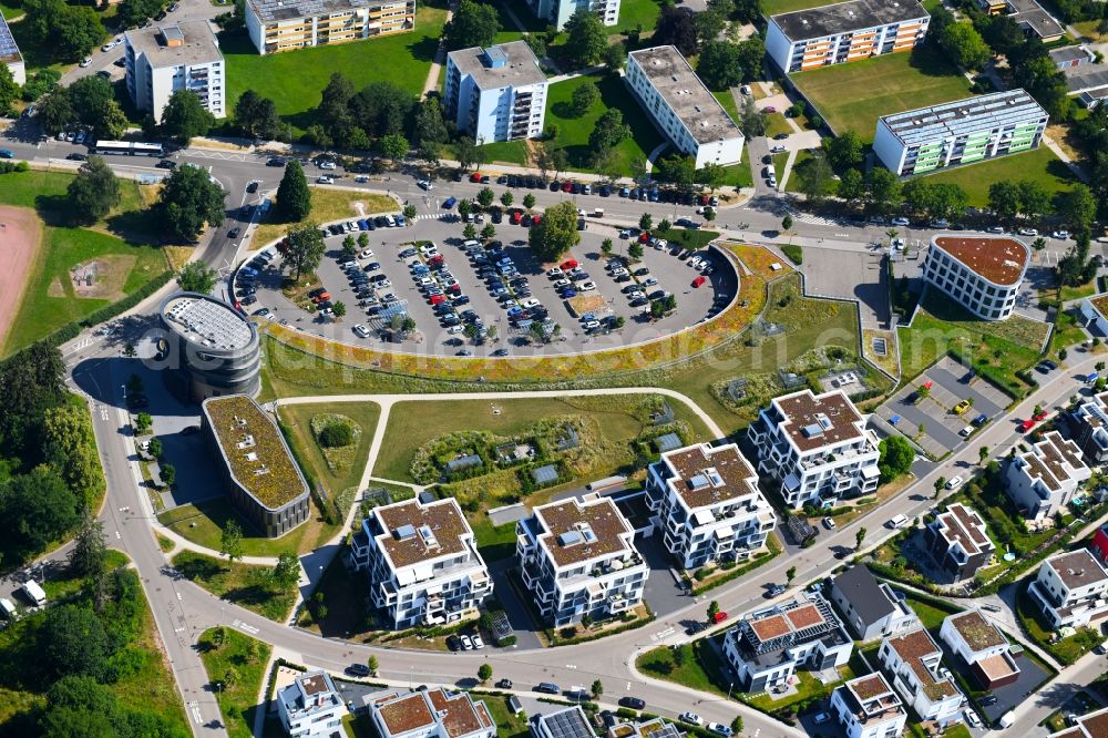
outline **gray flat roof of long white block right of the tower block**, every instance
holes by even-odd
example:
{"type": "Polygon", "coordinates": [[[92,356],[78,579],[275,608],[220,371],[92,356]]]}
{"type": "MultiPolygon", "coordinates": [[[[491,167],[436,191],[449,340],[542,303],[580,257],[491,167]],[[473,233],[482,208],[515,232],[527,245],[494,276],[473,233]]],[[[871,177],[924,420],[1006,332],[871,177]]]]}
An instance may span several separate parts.
{"type": "Polygon", "coordinates": [[[630,57],[643,68],[650,83],[698,143],[742,135],[739,126],[676,48],[654,47],[633,51],[630,57]]]}

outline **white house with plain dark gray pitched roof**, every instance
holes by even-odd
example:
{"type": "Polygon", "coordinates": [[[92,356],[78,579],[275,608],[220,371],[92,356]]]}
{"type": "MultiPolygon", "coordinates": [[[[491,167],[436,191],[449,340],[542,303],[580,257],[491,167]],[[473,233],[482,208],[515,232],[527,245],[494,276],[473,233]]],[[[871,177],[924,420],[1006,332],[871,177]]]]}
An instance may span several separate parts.
{"type": "Polygon", "coordinates": [[[878,582],[864,564],[855,564],[831,580],[831,602],[859,640],[903,633],[920,618],[884,582],[878,582]]]}

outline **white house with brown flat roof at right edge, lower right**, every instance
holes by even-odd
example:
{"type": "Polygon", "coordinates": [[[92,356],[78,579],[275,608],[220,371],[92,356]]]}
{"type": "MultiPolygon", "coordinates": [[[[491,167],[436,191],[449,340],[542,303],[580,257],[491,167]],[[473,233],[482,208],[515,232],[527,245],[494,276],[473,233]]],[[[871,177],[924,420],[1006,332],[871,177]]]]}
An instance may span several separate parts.
{"type": "Polygon", "coordinates": [[[1108,616],[1108,572],[1088,549],[1047,558],[1027,591],[1056,631],[1108,616]]]}

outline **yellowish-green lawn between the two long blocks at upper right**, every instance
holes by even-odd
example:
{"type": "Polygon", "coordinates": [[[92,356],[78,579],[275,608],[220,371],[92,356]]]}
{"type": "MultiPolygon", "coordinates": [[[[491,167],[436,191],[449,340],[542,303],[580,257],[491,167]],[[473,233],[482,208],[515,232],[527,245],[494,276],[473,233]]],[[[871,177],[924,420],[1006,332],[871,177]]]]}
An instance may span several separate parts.
{"type": "Polygon", "coordinates": [[[835,132],[866,143],[882,115],[971,96],[970,81],[930,45],[791,76],[835,132]]]}

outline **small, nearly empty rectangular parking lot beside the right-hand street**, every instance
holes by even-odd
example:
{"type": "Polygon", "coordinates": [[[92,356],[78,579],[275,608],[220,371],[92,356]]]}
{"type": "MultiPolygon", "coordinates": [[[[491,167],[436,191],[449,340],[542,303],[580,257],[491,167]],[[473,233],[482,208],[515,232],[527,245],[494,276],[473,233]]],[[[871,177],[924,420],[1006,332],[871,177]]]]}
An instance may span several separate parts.
{"type": "Polygon", "coordinates": [[[995,418],[1008,404],[1004,392],[954,361],[944,357],[878,408],[878,416],[915,440],[935,459],[946,455],[962,443],[973,440],[985,421],[995,418]],[[921,391],[922,387],[927,389],[921,391]],[[955,413],[958,403],[970,407],[955,413]],[[923,432],[921,433],[921,427],[923,432]],[[966,429],[973,432],[965,434],[966,429]]]}

